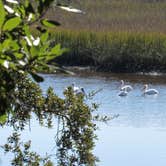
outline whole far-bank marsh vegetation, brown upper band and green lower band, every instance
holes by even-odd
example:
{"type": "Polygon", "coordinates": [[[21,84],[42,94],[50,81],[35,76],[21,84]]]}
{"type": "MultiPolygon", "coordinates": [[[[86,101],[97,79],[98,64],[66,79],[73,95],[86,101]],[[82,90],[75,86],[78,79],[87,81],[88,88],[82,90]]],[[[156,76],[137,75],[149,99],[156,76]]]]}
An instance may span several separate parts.
{"type": "Polygon", "coordinates": [[[47,13],[62,22],[61,28],[52,29],[55,43],[70,48],[57,62],[91,65],[101,71],[166,71],[165,0],[75,0],[71,4],[86,13],[68,14],[57,8],[47,13]]]}

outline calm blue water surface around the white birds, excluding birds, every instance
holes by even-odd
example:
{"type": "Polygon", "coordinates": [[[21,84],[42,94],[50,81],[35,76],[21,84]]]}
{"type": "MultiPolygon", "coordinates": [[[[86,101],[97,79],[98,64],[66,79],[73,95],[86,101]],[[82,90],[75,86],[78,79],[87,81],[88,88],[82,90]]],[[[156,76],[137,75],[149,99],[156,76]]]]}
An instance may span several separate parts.
{"type": "MultiPolygon", "coordinates": [[[[103,89],[93,101],[100,104],[99,113],[108,116],[119,115],[108,124],[99,123],[99,140],[94,153],[100,158],[99,166],[165,166],[166,165],[166,76],[141,76],[128,74],[81,76],[45,75],[41,87],[46,90],[52,86],[63,97],[63,89],[75,82],[86,92],[103,89]],[[119,97],[120,80],[131,84],[134,90],[127,97],[119,97]],[[159,91],[158,96],[143,97],[143,84],[159,91]]],[[[1,142],[11,130],[0,130],[1,142]]],[[[40,127],[35,119],[23,132],[25,140],[32,139],[32,148],[38,152],[54,153],[52,145],[56,125],[53,129],[40,127]]],[[[3,153],[0,152],[0,156],[3,153]]],[[[3,156],[0,165],[9,165],[11,155],[3,156]]]]}

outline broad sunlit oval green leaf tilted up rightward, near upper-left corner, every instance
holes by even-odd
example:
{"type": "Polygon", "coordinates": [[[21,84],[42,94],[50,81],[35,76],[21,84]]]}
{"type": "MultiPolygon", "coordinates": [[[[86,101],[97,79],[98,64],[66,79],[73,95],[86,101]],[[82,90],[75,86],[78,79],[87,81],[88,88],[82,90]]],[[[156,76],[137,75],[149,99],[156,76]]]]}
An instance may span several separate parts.
{"type": "Polygon", "coordinates": [[[11,31],[14,28],[16,28],[19,24],[21,23],[21,18],[20,17],[14,17],[9,19],[8,21],[5,22],[3,26],[4,31],[11,31]]]}

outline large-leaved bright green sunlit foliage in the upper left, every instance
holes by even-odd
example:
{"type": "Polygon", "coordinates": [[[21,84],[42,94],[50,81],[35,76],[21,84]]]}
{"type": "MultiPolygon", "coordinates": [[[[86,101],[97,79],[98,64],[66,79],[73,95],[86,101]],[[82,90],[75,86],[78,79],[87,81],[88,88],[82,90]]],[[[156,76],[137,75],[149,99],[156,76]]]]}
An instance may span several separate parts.
{"type": "MultiPolygon", "coordinates": [[[[17,2],[17,1],[15,1],[17,2]]],[[[43,20],[51,26],[56,22],[49,22],[42,17],[53,0],[19,1],[19,4],[0,0],[0,115],[4,114],[18,80],[22,75],[30,74],[36,82],[43,81],[37,74],[38,68],[47,66],[47,62],[61,55],[65,49],[60,44],[51,45],[49,32],[41,24],[36,28],[38,36],[32,34],[30,25],[43,20]],[[4,4],[11,8],[6,10],[4,4]]]]}

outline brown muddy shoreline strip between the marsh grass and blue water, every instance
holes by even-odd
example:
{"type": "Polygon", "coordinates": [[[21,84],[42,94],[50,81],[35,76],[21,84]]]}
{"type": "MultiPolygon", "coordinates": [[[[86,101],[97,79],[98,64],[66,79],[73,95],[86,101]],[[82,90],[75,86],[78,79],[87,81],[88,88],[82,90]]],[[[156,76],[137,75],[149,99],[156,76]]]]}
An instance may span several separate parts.
{"type": "Polygon", "coordinates": [[[158,72],[146,72],[146,73],[115,73],[115,72],[98,72],[94,70],[90,70],[89,66],[79,67],[79,66],[63,66],[63,68],[67,71],[66,73],[61,72],[40,72],[40,74],[44,75],[54,75],[62,76],[62,77],[82,77],[82,78],[92,78],[92,79],[104,79],[118,81],[124,80],[125,82],[130,83],[144,83],[144,84],[160,84],[166,85],[166,73],[158,73],[158,72]]]}

